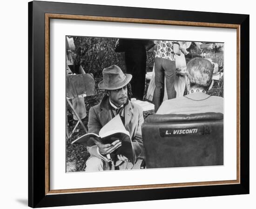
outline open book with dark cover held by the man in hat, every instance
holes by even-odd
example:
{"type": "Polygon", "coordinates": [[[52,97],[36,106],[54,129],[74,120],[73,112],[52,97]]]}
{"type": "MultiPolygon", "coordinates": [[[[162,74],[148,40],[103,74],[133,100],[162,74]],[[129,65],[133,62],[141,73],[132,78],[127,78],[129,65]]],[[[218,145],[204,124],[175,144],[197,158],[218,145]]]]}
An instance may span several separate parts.
{"type": "MultiPolygon", "coordinates": [[[[82,144],[93,146],[95,144],[112,144],[116,140],[120,140],[122,145],[111,154],[123,155],[135,164],[135,151],[133,148],[130,133],[125,129],[120,115],[116,115],[99,131],[99,135],[95,133],[87,133],[72,142],[72,144],[82,144]]],[[[115,160],[115,159],[114,159],[115,160]]]]}

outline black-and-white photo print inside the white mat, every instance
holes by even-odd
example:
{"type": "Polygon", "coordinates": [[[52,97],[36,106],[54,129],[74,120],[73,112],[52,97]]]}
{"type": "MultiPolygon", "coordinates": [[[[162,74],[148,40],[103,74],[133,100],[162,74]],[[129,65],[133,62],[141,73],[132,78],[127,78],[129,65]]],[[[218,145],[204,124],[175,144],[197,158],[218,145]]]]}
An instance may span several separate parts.
{"type": "Polygon", "coordinates": [[[66,172],[223,166],[224,46],[66,35],[66,172]]]}

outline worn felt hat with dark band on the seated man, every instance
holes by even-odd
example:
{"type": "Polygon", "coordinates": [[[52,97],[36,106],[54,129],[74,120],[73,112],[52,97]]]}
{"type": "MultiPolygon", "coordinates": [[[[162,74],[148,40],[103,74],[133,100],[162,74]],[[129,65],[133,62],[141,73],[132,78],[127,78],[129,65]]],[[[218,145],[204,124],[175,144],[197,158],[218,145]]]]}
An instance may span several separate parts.
{"type": "Polygon", "coordinates": [[[102,71],[103,80],[99,83],[100,89],[115,90],[127,85],[132,79],[131,74],[124,74],[120,67],[111,65],[102,71]]]}

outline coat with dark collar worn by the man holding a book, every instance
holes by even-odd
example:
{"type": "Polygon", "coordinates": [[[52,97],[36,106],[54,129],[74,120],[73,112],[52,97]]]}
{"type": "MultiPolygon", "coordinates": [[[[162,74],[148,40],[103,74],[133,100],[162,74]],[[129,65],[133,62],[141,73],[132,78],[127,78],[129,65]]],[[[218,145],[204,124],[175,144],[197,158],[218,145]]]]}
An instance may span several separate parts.
{"type": "MultiPolygon", "coordinates": [[[[135,156],[144,157],[144,149],[141,136],[141,124],[144,122],[143,112],[139,105],[128,101],[124,107],[125,129],[129,131],[133,142],[135,156]]],[[[109,107],[109,97],[104,96],[100,104],[90,108],[88,120],[88,132],[99,134],[101,128],[112,119],[111,109],[109,107]]],[[[90,155],[102,157],[97,152],[97,145],[87,147],[90,155]]]]}

